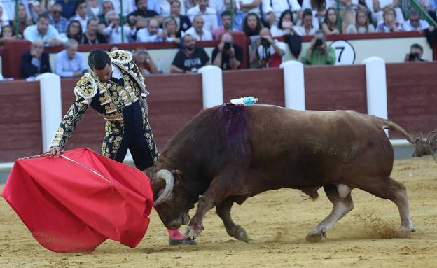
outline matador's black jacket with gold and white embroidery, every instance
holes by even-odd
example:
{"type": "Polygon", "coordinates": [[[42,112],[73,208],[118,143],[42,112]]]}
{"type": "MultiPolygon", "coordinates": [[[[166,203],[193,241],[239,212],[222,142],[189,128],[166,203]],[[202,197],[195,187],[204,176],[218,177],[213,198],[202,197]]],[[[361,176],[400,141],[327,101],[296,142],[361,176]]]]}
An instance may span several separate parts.
{"type": "Polygon", "coordinates": [[[116,83],[100,81],[92,72],[85,73],[74,87],[76,100],[64,115],[50,147],[64,147],[88,106],[102,115],[106,121],[123,122],[121,108],[147,97],[148,92],[144,85],[144,77],[137,65],[132,62],[132,55],[123,50],[116,50],[109,52],[109,56],[112,64],[116,65],[123,74],[125,86],[121,87],[116,83]]]}

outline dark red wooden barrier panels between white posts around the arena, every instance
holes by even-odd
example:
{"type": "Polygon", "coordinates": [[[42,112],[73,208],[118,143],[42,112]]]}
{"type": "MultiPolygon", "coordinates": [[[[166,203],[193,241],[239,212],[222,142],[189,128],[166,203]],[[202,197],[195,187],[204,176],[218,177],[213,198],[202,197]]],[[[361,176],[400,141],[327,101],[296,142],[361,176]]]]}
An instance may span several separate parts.
{"type": "MultiPolygon", "coordinates": [[[[305,67],[307,109],[352,109],[366,113],[365,67],[305,67]]],[[[437,92],[433,76],[437,62],[387,64],[389,119],[415,134],[437,128],[437,92]]],[[[62,111],[74,100],[76,79],[62,80],[62,111]]],[[[39,83],[16,80],[0,84],[0,162],[41,153],[39,83]],[[18,102],[18,100],[20,100],[18,102]]],[[[223,72],[225,101],[251,95],[261,104],[284,106],[282,69],[223,72]]],[[[146,78],[150,121],[162,150],[165,143],[202,111],[200,74],[159,75],[146,78]]],[[[100,151],[104,120],[89,109],[67,148],[87,146],[100,151]]],[[[391,138],[400,137],[395,132],[391,138]]]]}

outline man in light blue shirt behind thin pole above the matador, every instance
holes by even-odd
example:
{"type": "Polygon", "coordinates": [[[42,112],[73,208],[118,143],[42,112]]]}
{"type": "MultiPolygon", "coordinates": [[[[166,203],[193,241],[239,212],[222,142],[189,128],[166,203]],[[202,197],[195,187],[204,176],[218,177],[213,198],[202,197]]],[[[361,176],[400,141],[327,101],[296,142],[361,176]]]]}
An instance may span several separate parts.
{"type": "MultiPolygon", "coordinates": [[[[106,37],[108,43],[122,43],[120,17],[116,11],[106,13],[106,23],[108,23],[108,26],[102,31],[102,34],[106,37]]],[[[128,43],[134,34],[135,29],[123,26],[123,43],[128,43]]]]}

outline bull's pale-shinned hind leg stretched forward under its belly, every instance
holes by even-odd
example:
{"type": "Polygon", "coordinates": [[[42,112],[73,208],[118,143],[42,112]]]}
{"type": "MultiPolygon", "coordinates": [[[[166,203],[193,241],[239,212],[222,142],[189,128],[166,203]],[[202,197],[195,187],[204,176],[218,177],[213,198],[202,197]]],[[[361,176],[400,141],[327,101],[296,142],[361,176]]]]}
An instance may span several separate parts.
{"type": "Polygon", "coordinates": [[[326,192],[326,197],[333,204],[333,210],[329,213],[328,217],[319,223],[316,227],[312,228],[308,232],[307,239],[308,242],[318,242],[326,234],[335,223],[338,222],[343,216],[345,216],[349,211],[354,209],[354,202],[352,201],[350,188],[346,185],[325,185],[324,190],[326,192]],[[339,194],[340,193],[340,194],[339,194]]]}

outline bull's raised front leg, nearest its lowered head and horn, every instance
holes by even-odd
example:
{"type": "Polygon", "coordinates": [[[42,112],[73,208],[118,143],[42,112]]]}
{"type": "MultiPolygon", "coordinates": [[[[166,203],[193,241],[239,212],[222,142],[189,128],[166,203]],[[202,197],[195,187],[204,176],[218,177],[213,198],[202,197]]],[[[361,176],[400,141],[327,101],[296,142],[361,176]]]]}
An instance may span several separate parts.
{"type": "Polygon", "coordinates": [[[202,230],[204,230],[202,224],[204,216],[209,209],[212,209],[216,204],[219,204],[219,202],[228,197],[229,189],[228,185],[223,185],[223,181],[221,181],[220,177],[214,178],[208,190],[204,192],[199,202],[197,202],[196,212],[193,218],[191,218],[185,232],[187,237],[196,237],[202,233],[202,230]]]}

